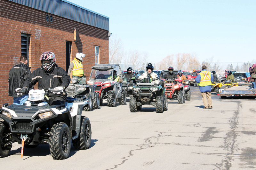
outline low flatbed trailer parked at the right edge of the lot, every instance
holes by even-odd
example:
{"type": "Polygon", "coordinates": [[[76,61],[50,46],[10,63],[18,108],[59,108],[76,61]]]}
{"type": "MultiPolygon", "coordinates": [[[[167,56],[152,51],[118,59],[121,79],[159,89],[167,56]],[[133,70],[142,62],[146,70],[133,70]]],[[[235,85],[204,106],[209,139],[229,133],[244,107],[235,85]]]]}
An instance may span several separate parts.
{"type": "Polygon", "coordinates": [[[223,90],[220,94],[221,98],[227,96],[251,96],[256,97],[255,90],[251,90],[249,86],[233,86],[231,88],[223,90]]]}

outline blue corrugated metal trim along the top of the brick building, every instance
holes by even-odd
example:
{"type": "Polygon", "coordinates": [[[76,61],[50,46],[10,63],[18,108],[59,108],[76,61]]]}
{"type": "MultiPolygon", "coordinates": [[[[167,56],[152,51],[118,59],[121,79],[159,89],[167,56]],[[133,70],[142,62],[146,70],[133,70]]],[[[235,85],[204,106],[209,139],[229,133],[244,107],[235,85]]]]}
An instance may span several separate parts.
{"type": "Polygon", "coordinates": [[[108,17],[66,0],[9,1],[109,31],[108,17]]]}

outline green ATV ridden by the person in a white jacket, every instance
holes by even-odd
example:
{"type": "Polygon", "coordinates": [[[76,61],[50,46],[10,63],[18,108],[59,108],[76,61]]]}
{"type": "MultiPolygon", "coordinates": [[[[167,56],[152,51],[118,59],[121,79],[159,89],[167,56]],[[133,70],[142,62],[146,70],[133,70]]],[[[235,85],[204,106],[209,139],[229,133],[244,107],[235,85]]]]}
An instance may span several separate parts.
{"type": "Polygon", "coordinates": [[[132,88],[132,96],[130,97],[130,111],[137,112],[141,110],[141,106],[144,104],[150,104],[156,107],[157,113],[162,113],[167,110],[167,96],[165,96],[164,81],[160,81],[159,84],[155,84],[152,81],[158,80],[144,78],[136,78],[137,84],[134,84],[132,88]]]}

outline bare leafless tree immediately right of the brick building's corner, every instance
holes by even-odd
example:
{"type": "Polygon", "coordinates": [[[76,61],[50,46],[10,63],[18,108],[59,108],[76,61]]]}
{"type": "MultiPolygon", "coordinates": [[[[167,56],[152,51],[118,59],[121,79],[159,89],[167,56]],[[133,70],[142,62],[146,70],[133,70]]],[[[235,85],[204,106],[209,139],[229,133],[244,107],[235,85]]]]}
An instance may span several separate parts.
{"type": "Polygon", "coordinates": [[[108,62],[113,64],[120,64],[124,55],[125,52],[121,39],[117,38],[116,36],[112,36],[111,38],[109,38],[108,62]]]}

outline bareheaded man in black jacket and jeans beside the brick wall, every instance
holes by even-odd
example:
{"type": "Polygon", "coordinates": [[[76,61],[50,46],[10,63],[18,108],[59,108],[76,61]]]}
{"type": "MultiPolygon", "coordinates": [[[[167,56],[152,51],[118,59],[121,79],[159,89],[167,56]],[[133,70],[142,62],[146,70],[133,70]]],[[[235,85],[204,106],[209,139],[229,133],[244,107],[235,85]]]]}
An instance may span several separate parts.
{"type": "Polygon", "coordinates": [[[17,95],[15,89],[22,88],[23,83],[28,80],[31,71],[27,66],[28,58],[25,55],[20,57],[19,64],[13,66],[9,72],[8,95],[13,97],[13,104],[22,105],[28,100],[28,95],[17,95]]]}

